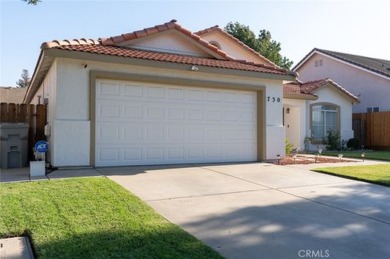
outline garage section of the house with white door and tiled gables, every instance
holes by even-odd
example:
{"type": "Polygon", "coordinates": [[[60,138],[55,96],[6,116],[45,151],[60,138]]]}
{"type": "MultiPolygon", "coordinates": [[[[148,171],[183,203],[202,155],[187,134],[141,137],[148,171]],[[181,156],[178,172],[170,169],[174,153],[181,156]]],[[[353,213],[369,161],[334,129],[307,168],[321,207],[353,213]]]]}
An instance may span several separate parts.
{"type": "Polygon", "coordinates": [[[172,20],[43,43],[24,102],[47,103],[55,167],[262,161],[285,155],[294,80],[218,27],[172,20]]]}

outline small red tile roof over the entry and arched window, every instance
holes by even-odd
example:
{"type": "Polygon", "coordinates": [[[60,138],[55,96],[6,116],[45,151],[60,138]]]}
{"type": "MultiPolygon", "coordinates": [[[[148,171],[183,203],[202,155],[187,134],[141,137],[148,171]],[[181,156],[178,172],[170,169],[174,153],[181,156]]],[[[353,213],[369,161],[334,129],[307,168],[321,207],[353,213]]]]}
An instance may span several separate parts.
{"type": "Polygon", "coordinates": [[[321,79],[321,80],[315,80],[310,82],[290,82],[287,84],[284,84],[283,86],[283,93],[286,95],[302,95],[302,96],[315,96],[314,91],[326,86],[327,84],[332,85],[339,91],[341,91],[343,94],[347,95],[349,98],[351,98],[354,102],[358,103],[359,98],[356,97],[354,94],[348,92],[346,89],[344,89],[342,86],[338,85],[334,81],[327,79],[321,79]]]}

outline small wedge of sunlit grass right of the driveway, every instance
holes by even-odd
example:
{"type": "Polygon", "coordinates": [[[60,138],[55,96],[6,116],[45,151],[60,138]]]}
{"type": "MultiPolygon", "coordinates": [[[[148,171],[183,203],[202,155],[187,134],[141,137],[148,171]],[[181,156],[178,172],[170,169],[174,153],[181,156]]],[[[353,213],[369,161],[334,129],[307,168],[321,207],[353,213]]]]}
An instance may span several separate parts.
{"type": "Polygon", "coordinates": [[[388,164],[316,168],[313,171],[390,186],[390,165],[388,164]]]}

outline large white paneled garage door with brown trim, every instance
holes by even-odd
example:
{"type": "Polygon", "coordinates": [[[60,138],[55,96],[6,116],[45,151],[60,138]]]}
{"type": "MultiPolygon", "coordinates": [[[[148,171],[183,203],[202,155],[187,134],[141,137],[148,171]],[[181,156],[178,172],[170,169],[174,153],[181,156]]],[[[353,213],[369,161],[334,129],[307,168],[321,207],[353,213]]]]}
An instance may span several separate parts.
{"type": "Polygon", "coordinates": [[[256,93],[98,80],[96,166],[257,159],[256,93]]]}

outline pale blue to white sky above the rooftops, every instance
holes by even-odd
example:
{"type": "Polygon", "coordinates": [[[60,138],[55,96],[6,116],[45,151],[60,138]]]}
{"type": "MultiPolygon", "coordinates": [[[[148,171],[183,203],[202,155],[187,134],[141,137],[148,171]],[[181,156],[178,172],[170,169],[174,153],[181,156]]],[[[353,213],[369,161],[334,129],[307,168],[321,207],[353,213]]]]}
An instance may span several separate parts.
{"type": "Polygon", "coordinates": [[[390,1],[0,0],[0,86],[33,74],[53,39],[109,37],[177,19],[190,31],[228,22],[269,30],[298,63],[313,48],[390,60],[390,1]]]}

